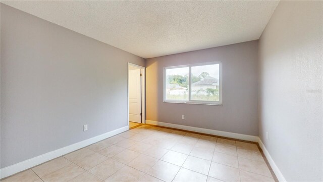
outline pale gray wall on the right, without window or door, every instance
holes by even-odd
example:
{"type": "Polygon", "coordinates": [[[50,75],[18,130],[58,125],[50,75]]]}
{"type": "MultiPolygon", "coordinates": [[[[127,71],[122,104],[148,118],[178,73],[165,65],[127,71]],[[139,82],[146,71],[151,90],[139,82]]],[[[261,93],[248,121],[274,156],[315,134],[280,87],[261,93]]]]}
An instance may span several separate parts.
{"type": "Polygon", "coordinates": [[[288,181],[323,180],[322,34],[322,1],[281,1],[259,40],[259,135],[288,181]]]}

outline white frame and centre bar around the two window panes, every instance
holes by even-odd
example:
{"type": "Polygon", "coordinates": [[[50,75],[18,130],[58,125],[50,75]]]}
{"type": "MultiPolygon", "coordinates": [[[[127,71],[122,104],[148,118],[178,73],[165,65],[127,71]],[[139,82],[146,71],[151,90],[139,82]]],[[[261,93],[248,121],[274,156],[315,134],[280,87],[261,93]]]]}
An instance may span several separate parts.
{"type": "Polygon", "coordinates": [[[216,61],[216,62],[207,62],[207,63],[197,63],[197,64],[189,64],[189,65],[180,65],[180,66],[169,66],[164,67],[164,102],[165,103],[181,103],[181,104],[203,104],[203,105],[218,105],[222,106],[222,62],[216,61]],[[205,66],[205,65],[213,65],[213,64],[219,64],[219,101],[192,101],[191,100],[191,68],[194,66],[205,66]],[[182,101],[182,100],[167,100],[166,99],[166,84],[167,84],[167,75],[166,70],[167,69],[173,69],[173,68],[184,68],[188,67],[188,101],[182,101]]]}

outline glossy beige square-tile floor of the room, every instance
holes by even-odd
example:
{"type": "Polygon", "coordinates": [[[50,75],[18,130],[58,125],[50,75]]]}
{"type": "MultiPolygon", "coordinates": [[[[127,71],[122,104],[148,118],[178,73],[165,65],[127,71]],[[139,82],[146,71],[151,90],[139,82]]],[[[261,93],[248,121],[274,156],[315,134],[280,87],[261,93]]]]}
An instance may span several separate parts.
{"type": "Polygon", "coordinates": [[[255,144],[141,125],[3,181],[275,181],[255,144]]]}

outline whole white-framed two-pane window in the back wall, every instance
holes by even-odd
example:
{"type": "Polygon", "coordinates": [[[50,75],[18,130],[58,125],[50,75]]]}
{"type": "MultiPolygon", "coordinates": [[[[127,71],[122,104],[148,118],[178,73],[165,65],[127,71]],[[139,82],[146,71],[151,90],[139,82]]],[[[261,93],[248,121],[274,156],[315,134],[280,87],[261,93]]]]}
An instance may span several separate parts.
{"type": "Polygon", "coordinates": [[[164,102],[222,104],[221,63],[164,68],[164,102]]]}

